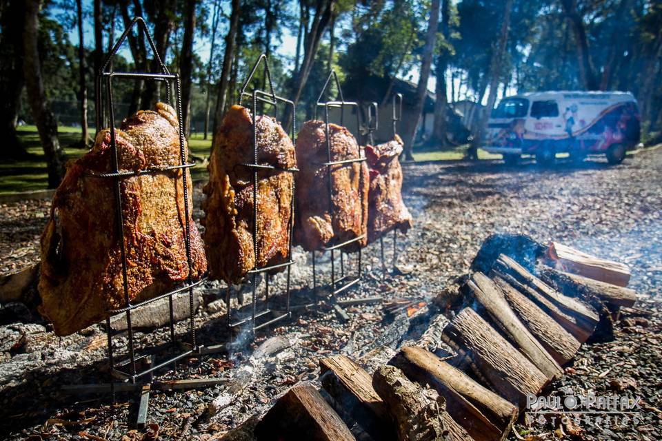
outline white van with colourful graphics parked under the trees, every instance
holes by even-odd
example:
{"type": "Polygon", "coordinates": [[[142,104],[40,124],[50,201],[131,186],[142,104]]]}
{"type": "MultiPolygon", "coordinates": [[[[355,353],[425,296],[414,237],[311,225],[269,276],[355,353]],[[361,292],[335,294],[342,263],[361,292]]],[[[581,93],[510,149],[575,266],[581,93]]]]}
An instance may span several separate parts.
{"type": "Polygon", "coordinates": [[[578,161],[605,154],[618,164],[639,143],[639,107],[630,92],[531,92],[508,96],[492,110],[483,149],[516,163],[522,154],[542,165],[556,153],[578,161]]]}

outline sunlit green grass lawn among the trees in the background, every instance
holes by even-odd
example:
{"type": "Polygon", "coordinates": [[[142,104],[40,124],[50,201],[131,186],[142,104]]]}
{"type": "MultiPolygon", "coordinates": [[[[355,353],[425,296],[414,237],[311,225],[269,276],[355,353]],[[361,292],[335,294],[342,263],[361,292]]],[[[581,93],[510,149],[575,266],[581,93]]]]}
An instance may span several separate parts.
{"type": "MultiPolygon", "coordinates": [[[[17,192],[29,192],[46,189],[46,161],[39,143],[39,134],[34,125],[23,125],[18,128],[19,139],[26,146],[31,158],[21,161],[3,161],[0,163],[0,195],[17,192]]],[[[64,148],[67,160],[79,158],[86,150],[72,147],[80,140],[81,130],[77,127],[59,127],[59,139],[64,148]]],[[[197,165],[191,170],[194,180],[205,180],[207,168],[205,158],[209,156],[212,145],[211,136],[204,140],[202,134],[192,134],[188,141],[192,160],[197,165]]],[[[454,147],[450,150],[425,149],[414,152],[416,161],[450,161],[463,158],[466,146],[454,147]]],[[[479,150],[480,159],[499,158],[498,154],[489,154],[479,150]]]]}

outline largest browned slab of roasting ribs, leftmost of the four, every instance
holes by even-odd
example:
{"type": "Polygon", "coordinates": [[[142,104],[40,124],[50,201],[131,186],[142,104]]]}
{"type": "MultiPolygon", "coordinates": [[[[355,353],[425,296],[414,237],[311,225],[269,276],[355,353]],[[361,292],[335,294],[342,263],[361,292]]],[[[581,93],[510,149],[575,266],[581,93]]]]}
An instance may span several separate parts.
{"type": "MultiPolygon", "coordinates": [[[[172,107],[140,111],[115,131],[119,172],[144,172],[120,178],[127,294],[132,303],[176,289],[188,280],[182,173],[188,194],[188,169],[181,163],[179,124],[172,107]]],[[[186,146],[185,146],[186,148],[186,146]]],[[[41,235],[40,313],[65,336],[126,307],[110,130],[97,134],[92,150],[68,165],[41,235]]],[[[185,154],[186,157],[187,154],[185,154]]],[[[207,268],[200,234],[190,217],[190,274],[207,268]]]]}

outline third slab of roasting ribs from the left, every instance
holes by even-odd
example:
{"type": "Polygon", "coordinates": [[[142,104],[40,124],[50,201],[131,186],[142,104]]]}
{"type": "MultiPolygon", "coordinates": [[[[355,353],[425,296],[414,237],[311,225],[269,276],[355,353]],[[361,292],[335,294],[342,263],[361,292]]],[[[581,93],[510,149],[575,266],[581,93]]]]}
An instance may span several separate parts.
{"type": "MultiPolygon", "coordinates": [[[[329,124],[331,162],[359,158],[359,145],[345,127],[329,124]]],[[[357,249],[367,242],[368,166],[365,161],[325,165],[329,162],[323,121],[307,121],[297,138],[297,223],[295,242],[306,251],[343,243],[357,249]],[[328,198],[329,168],[331,201],[328,198]]]]}

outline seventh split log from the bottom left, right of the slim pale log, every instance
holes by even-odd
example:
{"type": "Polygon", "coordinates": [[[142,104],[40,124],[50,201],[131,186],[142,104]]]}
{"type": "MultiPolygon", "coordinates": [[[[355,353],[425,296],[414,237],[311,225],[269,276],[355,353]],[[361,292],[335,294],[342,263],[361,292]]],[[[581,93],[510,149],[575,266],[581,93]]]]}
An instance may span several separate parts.
{"type": "Polygon", "coordinates": [[[559,365],[565,365],[574,357],[574,354],[579,351],[581,343],[572,334],[503,278],[494,277],[494,283],[499,287],[515,314],[559,365]]]}

